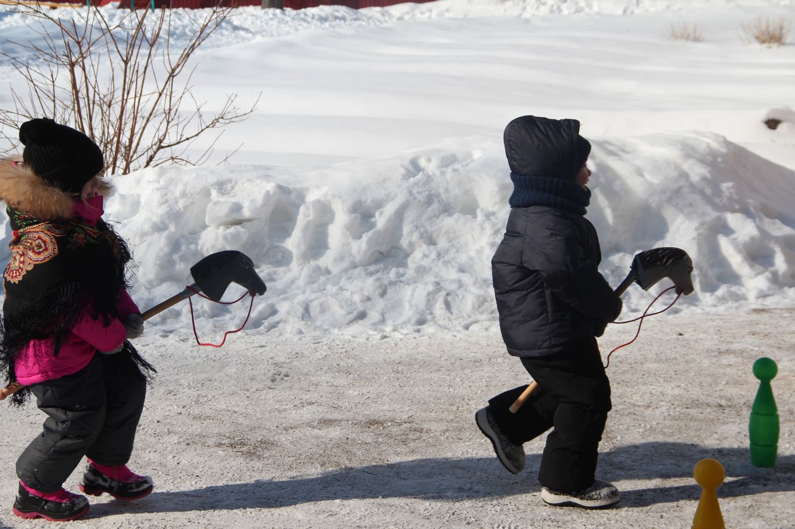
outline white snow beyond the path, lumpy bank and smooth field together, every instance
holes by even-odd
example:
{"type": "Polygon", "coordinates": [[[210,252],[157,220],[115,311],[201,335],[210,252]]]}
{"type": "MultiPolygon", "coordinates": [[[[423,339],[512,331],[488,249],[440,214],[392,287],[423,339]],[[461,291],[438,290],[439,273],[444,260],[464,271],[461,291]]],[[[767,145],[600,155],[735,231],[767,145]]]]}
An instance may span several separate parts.
{"type": "MultiPolygon", "coordinates": [[[[241,147],[235,164],[113,178],[107,218],[121,222],[141,262],[133,294],[150,307],[192,283],[188,269],[204,255],[238,249],[269,287],[248,324],[259,332],[495,330],[489,259],[511,191],[501,133],[511,118],[537,114],[580,119],[593,144],[588,217],[611,284],[635,253],[670,245],[696,264],[696,293],[676,310],[787,305],[795,123],[764,121],[789,115],[795,56],[791,45],[747,44],[739,29],[793,6],[235,10],[194,74],[209,110],[227,94],[253,102],[262,92],[255,114],[216,144],[219,156],[241,147]],[[677,21],[699,24],[705,41],[671,40],[677,21]]],[[[173,47],[197,13],[174,12],[173,47]]],[[[4,46],[37,37],[21,15],[4,15],[4,46]]],[[[0,68],[10,72],[7,60],[0,68]]],[[[632,310],[648,302],[639,290],[626,295],[632,310]]],[[[187,312],[180,305],[151,324],[181,329],[187,312]]],[[[196,316],[212,330],[244,317],[204,303],[196,316]]]]}

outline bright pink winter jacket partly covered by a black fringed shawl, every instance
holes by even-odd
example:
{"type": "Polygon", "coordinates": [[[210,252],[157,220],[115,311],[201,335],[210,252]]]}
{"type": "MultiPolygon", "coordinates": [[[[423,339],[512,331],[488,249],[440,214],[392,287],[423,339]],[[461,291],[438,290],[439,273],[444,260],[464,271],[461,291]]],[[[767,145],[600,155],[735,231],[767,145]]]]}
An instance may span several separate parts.
{"type": "MultiPolygon", "coordinates": [[[[77,203],[75,210],[83,218],[96,222],[103,214],[102,202],[99,204],[99,208],[87,210],[83,203],[77,203]]],[[[88,365],[98,350],[118,349],[127,337],[122,319],[141,313],[130,294],[123,289],[118,296],[118,319],[114,318],[109,326],[105,326],[101,318],[91,318],[89,308],[83,310],[75,328],[61,341],[57,356],[52,354],[55,337],[33,340],[21,350],[14,364],[17,382],[27,386],[77,373],[88,365]]]]}

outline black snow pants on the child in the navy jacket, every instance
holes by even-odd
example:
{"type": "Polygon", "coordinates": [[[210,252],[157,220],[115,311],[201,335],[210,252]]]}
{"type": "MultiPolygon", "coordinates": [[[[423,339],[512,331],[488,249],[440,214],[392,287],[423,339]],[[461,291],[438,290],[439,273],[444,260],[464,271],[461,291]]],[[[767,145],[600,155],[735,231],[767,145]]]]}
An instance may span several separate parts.
{"type": "Polygon", "coordinates": [[[511,389],[489,401],[499,429],[522,444],[549,428],[538,481],[547,488],[572,492],[593,483],[599,441],[607,422],[610,381],[595,338],[585,338],[563,352],[522,357],[538,388],[513,414],[508,409],[527,387],[511,389]]]}

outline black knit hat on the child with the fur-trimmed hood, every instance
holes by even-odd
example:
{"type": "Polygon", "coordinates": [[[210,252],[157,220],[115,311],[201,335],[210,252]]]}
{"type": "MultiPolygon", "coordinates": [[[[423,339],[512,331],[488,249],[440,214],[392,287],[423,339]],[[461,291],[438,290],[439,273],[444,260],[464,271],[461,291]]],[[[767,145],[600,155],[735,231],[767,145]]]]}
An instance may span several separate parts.
{"type": "Polygon", "coordinates": [[[102,171],[102,151],[91,138],[50,118],[22,123],[19,140],[25,145],[22,160],[52,187],[79,193],[102,171]]]}

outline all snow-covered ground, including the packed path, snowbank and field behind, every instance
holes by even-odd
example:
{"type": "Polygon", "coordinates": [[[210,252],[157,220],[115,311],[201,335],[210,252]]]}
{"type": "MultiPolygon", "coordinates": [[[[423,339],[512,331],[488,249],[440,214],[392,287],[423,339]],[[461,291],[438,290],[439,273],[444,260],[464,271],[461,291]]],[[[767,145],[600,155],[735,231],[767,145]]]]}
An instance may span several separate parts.
{"type": "MultiPolygon", "coordinates": [[[[194,75],[210,109],[262,92],[216,144],[219,157],[242,145],[233,164],[114,177],[106,217],[134,243],[142,308],[224,249],[249,255],[268,292],[223,349],[196,346],[187,303],[147,322],[140,346],[161,376],[133,465],[158,492],[134,506],[100,500],[81,523],[684,527],[698,496],[692,465],[715,457],[727,467],[727,526],[795,527],[785,500],[795,491],[795,46],[749,44],[741,31],[780,16],[795,23],[795,1],[236,10],[194,75]],[[704,41],[670,39],[681,22],[704,41]],[[513,477],[471,420],[527,378],[502,349],[490,267],[511,190],[502,129],[523,114],[582,122],[588,218],[611,284],[657,246],[687,250],[696,268],[696,292],[645,323],[608,372],[615,408],[600,473],[624,493],[611,512],[545,507],[534,477],[543,439],[513,477]],[[746,453],[760,356],[780,369],[772,470],[746,453]]],[[[11,12],[0,11],[0,32],[5,52],[37,38],[11,12]]],[[[175,12],[172,44],[190,33],[175,12]]],[[[21,87],[7,61],[0,75],[21,87]]],[[[630,288],[622,319],[667,286],[630,288]]],[[[195,308],[205,341],[246,311],[195,308]]],[[[633,334],[611,326],[603,353],[633,334]]],[[[0,526],[33,527],[10,502],[14,460],[42,417],[0,415],[0,526]]]]}

